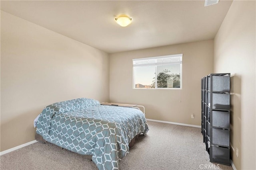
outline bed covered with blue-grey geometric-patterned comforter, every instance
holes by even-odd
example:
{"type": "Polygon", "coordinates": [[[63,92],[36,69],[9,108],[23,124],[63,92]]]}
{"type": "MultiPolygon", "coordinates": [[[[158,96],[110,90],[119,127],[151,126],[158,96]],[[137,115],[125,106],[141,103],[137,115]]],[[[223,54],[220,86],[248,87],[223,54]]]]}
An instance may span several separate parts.
{"type": "Polygon", "coordinates": [[[99,170],[118,169],[132,139],[148,130],[140,109],[100,105],[88,98],[46,106],[36,122],[36,135],[73,152],[92,155],[99,170]]]}

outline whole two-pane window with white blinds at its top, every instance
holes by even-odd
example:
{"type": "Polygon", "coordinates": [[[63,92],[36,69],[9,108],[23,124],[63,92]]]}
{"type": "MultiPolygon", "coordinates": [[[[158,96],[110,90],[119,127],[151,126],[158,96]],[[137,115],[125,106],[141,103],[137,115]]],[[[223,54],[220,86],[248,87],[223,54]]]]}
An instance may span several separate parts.
{"type": "Polygon", "coordinates": [[[182,54],[133,59],[134,89],[182,87],[182,54]]]}

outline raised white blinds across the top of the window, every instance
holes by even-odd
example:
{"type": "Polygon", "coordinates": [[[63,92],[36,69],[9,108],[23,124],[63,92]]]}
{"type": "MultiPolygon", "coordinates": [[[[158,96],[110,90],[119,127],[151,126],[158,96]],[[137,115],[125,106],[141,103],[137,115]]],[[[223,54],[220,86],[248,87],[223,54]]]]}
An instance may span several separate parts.
{"type": "Polygon", "coordinates": [[[159,57],[147,57],[141,59],[132,59],[133,66],[155,66],[166,64],[181,64],[182,54],[165,55],[159,57]]]}

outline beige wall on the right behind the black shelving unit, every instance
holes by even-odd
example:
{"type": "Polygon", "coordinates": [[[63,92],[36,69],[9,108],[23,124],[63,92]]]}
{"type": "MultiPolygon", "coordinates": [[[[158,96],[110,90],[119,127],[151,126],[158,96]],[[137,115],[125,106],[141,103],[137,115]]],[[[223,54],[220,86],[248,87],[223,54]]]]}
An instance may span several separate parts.
{"type": "Polygon", "coordinates": [[[232,74],[230,143],[239,170],[256,169],[255,5],[255,1],[233,1],[214,38],[214,72],[232,74]]]}

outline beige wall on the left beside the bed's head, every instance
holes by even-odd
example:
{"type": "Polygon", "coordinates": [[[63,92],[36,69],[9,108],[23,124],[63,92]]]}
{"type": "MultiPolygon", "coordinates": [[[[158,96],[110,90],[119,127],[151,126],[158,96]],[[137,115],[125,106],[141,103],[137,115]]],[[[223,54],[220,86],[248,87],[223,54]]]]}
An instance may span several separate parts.
{"type": "Polygon", "coordinates": [[[54,102],[109,100],[109,57],[1,12],[1,151],[34,140],[34,118],[54,102]]]}

